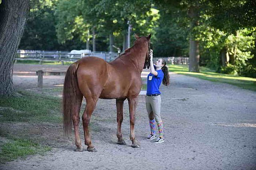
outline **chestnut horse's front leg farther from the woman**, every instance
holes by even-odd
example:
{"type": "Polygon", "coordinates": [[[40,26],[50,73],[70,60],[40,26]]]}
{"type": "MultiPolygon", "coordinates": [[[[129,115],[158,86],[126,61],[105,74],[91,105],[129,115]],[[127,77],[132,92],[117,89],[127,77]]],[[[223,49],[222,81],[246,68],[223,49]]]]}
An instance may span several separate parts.
{"type": "Polygon", "coordinates": [[[116,119],[117,119],[117,132],[116,136],[118,138],[118,144],[126,144],[122,138],[122,121],[123,121],[123,105],[124,99],[116,99],[116,119]]]}

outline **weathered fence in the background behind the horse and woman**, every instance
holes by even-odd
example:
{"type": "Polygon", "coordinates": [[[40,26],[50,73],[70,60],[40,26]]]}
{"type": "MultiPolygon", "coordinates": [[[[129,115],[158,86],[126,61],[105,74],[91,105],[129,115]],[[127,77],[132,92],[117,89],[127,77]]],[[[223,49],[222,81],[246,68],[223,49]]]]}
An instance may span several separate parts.
{"type": "MultiPolygon", "coordinates": [[[[95,51],[90,54],[72,54],[70,51],[39,51],[39,50],[18,50],[15,60],[33,60],[33,61],[76,61],[82,57],[95,56],[104,59],[105,61],[113,61],[118,57],[118,53],[95,51]]],[[[159,57],[166,60],[170,64],[188,64],[188,57],[159,57]]]]}

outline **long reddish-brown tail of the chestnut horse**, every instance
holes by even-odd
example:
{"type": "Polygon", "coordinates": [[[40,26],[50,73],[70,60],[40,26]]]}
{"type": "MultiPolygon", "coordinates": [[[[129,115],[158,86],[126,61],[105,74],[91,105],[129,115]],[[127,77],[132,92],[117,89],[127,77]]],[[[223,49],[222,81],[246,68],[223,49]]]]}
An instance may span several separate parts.
{"type": "Polygon", "coordinates": [[[73,63],[68,67],[64,80],[63,88],[63,128],[64,134],[70,136],[72,126],[72,116],[75,111],[76,94],[78,93],[79,87],[77,82],[76,70],[78,63],[73,63]]]}

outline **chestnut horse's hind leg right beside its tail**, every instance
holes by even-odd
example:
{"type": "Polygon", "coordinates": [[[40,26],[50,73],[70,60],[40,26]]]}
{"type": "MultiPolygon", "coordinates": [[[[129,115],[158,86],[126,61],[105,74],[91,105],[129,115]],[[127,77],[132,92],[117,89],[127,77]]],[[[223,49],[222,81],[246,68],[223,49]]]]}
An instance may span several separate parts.
{"type": "Polygon", "coordinates": [[[76,150],[77,152],[82,152],[83,147],[80,140],[79,135],[79,123],[80,123],[80,107],[82,104],[83,95],[82,94],[76,94],[76,109],[73,114],[73,125],[74,125],[74,132],[75,132],[75,144],[76,144],[76,150]]]}

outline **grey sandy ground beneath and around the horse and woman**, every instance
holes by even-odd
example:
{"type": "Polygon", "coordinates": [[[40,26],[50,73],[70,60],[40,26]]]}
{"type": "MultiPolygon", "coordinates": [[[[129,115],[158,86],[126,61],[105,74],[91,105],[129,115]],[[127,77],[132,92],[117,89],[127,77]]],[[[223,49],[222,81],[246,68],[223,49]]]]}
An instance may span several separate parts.
{"type": "MultiPolygon", "coordinates": [[[[15,65],[14,71],[24,71],[22,67],[15,65]]],[[[51,66],[55,67],[66,69],[51,66]]],[[[29,71],[26,65],[25,69],[29,71]]],[[[36,89],[35,75],[14,73],[13,78],[16,87],[36,89]]],[[[44,87],[61,85],[63,80],[64,76],[45,76],[44,87]]],[[[54,147],[44,156],[8,162],[0,169],[256,169],[256,92],[177,74],[170,75],[170,82],[169,87],[160,87],[164,143],[146,139],[149,125],[141,99],[135,125],[141,148],[130,146],[127,101],[122,124],[127,145],[116,144],[115,100],[100,99],[91,124],[98,152],[74,152],[74,141],[64,140],[66,145],[54,147]]],[[[58,127],[44,126],[38,128],[44,136],[58,127]]],[[[83,140],[82,129],[80,134],[83,140]]],[[[61,140],[57,136],[56,141],[61,140]]]]}

